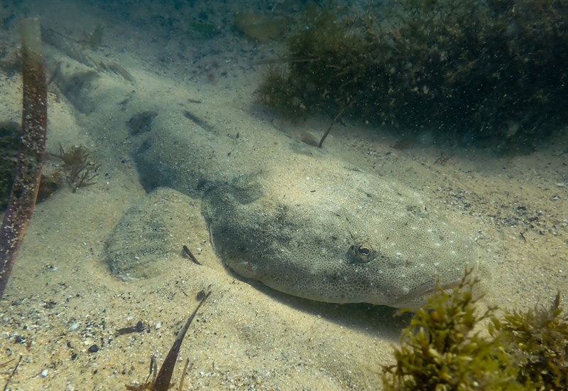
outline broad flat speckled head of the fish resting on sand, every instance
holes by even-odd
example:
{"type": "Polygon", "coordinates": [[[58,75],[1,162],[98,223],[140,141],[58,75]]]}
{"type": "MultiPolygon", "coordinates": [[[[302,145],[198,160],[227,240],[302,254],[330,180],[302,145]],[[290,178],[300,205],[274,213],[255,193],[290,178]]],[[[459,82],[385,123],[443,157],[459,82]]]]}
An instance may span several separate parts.
{"type": "Polygon", "coordinates": [[[219,257],[243,277],[306,299],[410,308],[436,282],[450,287],[479,269],[476,243],[417,193],[343,174],[343,182],[322,174],[288,186],[259,176],[209,191],[204,214],[219,257]]]}

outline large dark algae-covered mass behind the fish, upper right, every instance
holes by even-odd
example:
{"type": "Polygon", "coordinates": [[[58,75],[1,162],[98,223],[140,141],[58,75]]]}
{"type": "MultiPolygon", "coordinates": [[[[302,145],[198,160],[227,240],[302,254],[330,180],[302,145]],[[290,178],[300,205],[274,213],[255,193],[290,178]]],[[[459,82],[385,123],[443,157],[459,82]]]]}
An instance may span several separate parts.
{"type": "Polygon", "coordinates": [[[362,122],[501,148],[537,144],[568,119],[567,1],[389,4],[308,7],[261,102],[292,116],[350,105],[362,122]]]}

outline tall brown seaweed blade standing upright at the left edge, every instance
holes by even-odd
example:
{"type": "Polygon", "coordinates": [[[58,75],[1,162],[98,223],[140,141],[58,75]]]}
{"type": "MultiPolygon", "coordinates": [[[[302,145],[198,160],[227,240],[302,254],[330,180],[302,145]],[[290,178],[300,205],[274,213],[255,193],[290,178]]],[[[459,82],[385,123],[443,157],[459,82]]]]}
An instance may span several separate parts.
{"type": "Polygon", "coordinates": [[[30,223],[38,195],[48,122],[48,95],[40,22],[33,18],[23,19],[20,30],[23,77],[22,139],[10,200],[0,227],[0,299],[30,223]]]}

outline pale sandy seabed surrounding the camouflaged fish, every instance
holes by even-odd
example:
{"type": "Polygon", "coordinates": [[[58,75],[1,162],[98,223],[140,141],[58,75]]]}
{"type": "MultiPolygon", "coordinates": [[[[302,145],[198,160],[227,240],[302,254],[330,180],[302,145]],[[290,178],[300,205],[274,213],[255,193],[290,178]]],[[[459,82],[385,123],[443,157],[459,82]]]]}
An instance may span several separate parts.
{"type": "MultiPolygon", "coordinates": [[[[231,18],[244,8],[266,9],[269,2],[200,3],[8,1],[1,10],[2,18],[11,18],[0,31],[4,59],[18,46],[16,21],[24,16],[38,16],[43,26],[77,40],[104,23],[102,46],[84,50],[128,70],[136,80],[133,90],[153,99],[160,99],[161,91],[201,102],[212,122],[231,134],[246,136],[249,127],[266,127],[292,138],[305,132],[320,135],[328,118],[289,123],[256,103],[254,91],[265,69],[252,63],[278,56],[280,44],[250,41],[234,31],[231,18]],[[173,4],[182,5],[176,9],[173,4]],[[176,23],[200,13],[221,27],[221,35],[204,39],[180,33],[176,23]]],[[[3,71],[0,76],[1,120],[19,122],[21,75],[3,71]]],[[[112,77],[124,83],[120,75],[112,77]]],[[[197,306],[197,293],[208,289],[212,295],[187,333],[174,373],[178,382],[189,358],[185,389],[380,387],[381,365],[393,362],[392,346],[408,316],[394,317],[395,310],[383,306],[297,299],[240,279],[212,250],[199,199],[190,200],[185,210],[187,229],[177,237],[180,251],[164,260],[164,272],[131,282],[114,278],[105,243],[126,210],[146,194],[131,157],[129,130],[126,123],[117,129],[100,115],[80,112],[55,85],[48,100],[46,169],[58,168],[53,155],[60,144],[85,146],[101,167],[94,185],[76,192],[63,186],[35,208],[0,302],[0,363],[13,360],[0,368],[0,385],[20,357],[9,390],[122,390],[143,383],[151,358],[163,362],[197,306]],[[182,254],[182,245],[202,266],[182,254]],[[117,333],[138,321],[141,332],[117,333]],[[90,351],[94,345],[98,350],[90,351]]],[[[406,183],[471,232],[493,274],[483,305],[526,310],[552,300],[557,291],[565,301],[566,130],[525,156],[450,149],[427,139],[397,149],[398,140],[388,130],[346,120],[336,124],[324,150],[406,183]]],[[[275,143],[267,133],[267,146],[278,148],[275,143]]]]}

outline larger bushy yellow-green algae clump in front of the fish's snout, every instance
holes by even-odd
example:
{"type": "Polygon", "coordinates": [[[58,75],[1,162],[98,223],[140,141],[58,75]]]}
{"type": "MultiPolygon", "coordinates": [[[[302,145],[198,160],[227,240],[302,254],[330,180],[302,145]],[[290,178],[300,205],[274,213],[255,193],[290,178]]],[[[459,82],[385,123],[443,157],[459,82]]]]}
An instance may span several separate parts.
{"type": "Polygon", "coordinates": [[[385,390],[522,390],[501,341],[482,338],[476,325],[495,309],[477,314],[466,275],[455,290],[437,289],[403,330],[396,364],[383,368],[385,390]]]}

